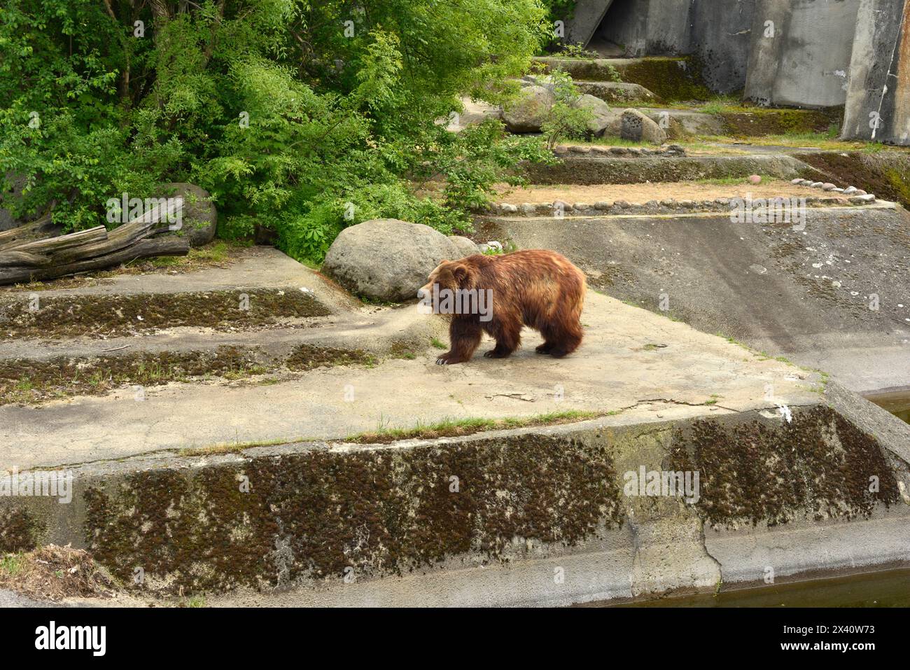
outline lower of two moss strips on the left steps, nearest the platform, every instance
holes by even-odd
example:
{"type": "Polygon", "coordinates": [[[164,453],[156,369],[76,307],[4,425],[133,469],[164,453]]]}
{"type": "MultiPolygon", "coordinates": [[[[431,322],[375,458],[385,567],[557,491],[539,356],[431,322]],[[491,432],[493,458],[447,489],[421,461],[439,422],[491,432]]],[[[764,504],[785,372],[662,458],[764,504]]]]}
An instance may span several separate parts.
{"type": "Polygon", "coordinates": [[[286,357],[272,357],[256,347],[222,346],[215,350],[138,351],[91,358],[0,360],[0,405],[40,404],[78,395],[104,395],[124,385],[157,386],[171,381],[308,371],[319,367],[366,365],[379,359],[362,350],[298,345],[286,357]]]}

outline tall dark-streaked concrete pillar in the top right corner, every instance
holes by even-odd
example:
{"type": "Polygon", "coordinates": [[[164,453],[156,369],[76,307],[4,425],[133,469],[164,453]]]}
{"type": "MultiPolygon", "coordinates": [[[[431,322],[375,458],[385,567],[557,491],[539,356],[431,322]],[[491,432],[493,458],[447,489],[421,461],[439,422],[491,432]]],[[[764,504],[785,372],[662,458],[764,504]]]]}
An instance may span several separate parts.
{"type": "Polygon", "coordinates": [[[910,3],[904,0],[860,3],[843,137],[910,146],[910,3]]]}

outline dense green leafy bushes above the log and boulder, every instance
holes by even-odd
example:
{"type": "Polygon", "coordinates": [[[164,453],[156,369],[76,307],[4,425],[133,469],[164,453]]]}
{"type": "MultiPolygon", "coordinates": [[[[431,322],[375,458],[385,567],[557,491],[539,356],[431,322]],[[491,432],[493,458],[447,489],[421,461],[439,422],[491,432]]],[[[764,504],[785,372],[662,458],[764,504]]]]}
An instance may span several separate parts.
{"type": "Polygon", "coordinates": [[[547,157],[498,122],[437,120],[514,95],[545,16],[539,0],[6,0],[0,175],[25,191],[4,206],[81,229],[108,198],[191,181],[219,235],[272,228],[309,261],[367,218],[468,229],[493,183],[547,157]]]}

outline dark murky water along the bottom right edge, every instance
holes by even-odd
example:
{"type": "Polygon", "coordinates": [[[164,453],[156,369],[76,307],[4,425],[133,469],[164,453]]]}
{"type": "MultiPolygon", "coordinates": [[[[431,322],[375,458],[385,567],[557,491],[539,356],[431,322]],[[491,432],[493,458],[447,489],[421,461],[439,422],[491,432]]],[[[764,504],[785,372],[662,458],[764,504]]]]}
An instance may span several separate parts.
{"type": "MultiPolygon", "coordinates": [[[[910,568],[603,607],[910,607],[910,568]]],[[[591,606],[591,605],[589,605],[591,606]]]]}

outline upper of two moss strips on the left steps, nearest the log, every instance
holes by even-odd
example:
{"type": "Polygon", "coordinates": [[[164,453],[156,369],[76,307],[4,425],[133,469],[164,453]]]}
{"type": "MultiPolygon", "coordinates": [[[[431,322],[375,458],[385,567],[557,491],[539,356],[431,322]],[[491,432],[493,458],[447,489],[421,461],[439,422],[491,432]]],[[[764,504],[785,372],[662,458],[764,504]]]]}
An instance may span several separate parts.
{"type": "Polygon", "coordinates": [[[0,299],[0,339],[78,335],[108,338],[179,326],[236,330],[330,313],[312,295],[294,289],[52,297],[37,294],[32,298],[24,295],[15,300],[0,299]],[[33,309],[35,299],[37,309],[33,309]]]}

